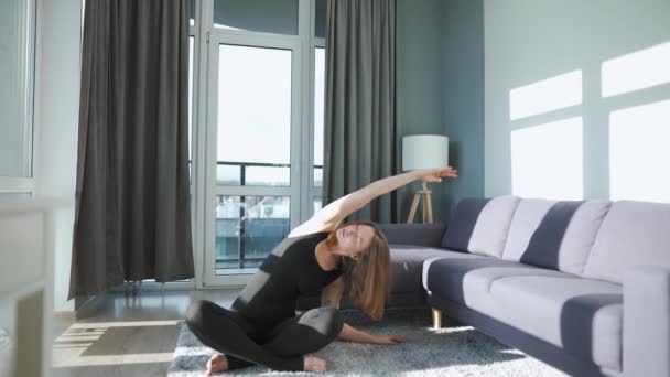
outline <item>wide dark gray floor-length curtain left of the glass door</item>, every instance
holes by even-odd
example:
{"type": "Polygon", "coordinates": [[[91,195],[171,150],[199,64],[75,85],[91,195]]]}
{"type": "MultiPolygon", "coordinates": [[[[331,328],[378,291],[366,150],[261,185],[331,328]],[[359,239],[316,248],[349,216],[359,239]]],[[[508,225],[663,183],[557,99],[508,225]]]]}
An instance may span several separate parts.
{"type": "Polygon", "coordinates": [[[68,299],[194,277],[187,0],[86,2],[68,299]]]}

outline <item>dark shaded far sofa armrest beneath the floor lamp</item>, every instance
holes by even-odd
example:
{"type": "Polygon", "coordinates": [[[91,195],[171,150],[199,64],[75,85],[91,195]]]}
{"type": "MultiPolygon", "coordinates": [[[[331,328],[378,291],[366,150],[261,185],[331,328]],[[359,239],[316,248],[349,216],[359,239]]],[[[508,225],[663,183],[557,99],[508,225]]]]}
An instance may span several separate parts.
{"type": "Polygon", "coordinates": [[[389,244],[440,247],[446,225],[437,224],[379,224],[389,244]]]}

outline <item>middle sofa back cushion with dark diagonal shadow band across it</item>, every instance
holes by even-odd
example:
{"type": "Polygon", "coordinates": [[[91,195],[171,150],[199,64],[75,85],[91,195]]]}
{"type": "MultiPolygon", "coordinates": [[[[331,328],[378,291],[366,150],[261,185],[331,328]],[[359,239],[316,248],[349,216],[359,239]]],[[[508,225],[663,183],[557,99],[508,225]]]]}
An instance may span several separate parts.
{"type": "Polygon", "coordinates": [[[523,198],[502,259],[581,274],[610,206],[609,201],[523,198]]]}

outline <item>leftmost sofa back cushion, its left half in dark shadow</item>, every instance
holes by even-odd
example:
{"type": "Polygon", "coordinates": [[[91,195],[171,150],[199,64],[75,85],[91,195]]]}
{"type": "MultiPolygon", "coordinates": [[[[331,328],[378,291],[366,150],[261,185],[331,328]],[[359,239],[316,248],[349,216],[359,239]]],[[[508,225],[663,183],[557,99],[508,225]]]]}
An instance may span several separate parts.
{"type": "Polygon", "coordinates": [[[442,247],[500,258],[519,197],[465,198],[456,206],[442,247]]]}

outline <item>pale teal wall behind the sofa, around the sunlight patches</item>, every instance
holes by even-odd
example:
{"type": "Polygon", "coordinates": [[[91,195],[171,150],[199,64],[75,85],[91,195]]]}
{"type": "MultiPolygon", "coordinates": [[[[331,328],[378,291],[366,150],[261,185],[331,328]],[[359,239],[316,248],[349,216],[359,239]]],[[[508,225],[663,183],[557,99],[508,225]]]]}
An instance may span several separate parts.
{"type": "MultiPolygon", "coordinates": [[[[664,84],[605,98],[601,89],[602,65],[670,42],[670,1],[486,0],[484,19],[485,194],[512,192],[512,130],[581,117],[583,196],[609,197],[610,112],[670,99],[670,86],[664,84]],[[582,104],[510,120],[510,90],[576,69],[583,77],[582,104]]],[[[571,153],[574,148],[566,143],[564,153],[571,153]]]]}

